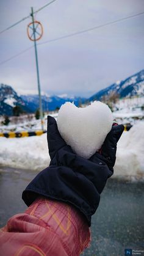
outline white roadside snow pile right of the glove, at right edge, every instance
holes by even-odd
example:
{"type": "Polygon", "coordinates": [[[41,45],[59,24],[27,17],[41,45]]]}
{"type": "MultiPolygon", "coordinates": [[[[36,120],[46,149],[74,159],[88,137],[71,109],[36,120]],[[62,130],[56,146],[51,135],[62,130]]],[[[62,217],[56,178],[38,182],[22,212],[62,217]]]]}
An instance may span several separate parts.
{"type": "Polygon", "coordinates": [[[113,178],[144,178],[144,122],[137,123],[131,130],[124,132],[117,147],[113,178]]]}

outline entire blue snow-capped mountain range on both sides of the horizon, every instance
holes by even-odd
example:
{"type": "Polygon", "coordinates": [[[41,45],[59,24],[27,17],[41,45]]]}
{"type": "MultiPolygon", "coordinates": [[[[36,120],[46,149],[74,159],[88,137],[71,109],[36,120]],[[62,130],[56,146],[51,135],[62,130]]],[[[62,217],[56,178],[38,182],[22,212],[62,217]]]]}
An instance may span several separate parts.
{"type": "MultiPolygon", "coordinates": [[[[104,95],[110,95],[111,92],[117,93],[120,98],[131,97],[134,95],[144,95],[144,70],[130,76],[123,81],[117,81],[106,89],[100,90],[87,101],[101,100],[104,95]]],[[[35,112],[39,107],[39,97],[37,92],[29,90],[26,93],[18,91],[18,94],[11,86],[0,84],[0,115],[12,115],[13,107],[20,106],[24,112],[35,112]],[[23,95],[20,95],[23,93],[23,95]]],[[[53,111],[60,108],[66,101],[74,102],[76,106],[79,103],[84,103],[85,98],[68,97],[67,94],[49,96],[47,93],[41,93],[41,101],[43,111],[53,111]]]]}

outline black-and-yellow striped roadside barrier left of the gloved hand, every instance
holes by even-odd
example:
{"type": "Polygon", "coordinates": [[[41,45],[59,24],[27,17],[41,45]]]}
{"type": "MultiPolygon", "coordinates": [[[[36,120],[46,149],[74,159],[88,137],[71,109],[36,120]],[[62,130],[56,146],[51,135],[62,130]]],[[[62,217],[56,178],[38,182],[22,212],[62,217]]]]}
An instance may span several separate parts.
{"type": "Polygon", "coordinates": [[[10,131],[9,133],[0,133],[0,137],[14,138],[14,137],[29,137],[29,136],[40,136],[46,133],[46,131],[10,131]]]}

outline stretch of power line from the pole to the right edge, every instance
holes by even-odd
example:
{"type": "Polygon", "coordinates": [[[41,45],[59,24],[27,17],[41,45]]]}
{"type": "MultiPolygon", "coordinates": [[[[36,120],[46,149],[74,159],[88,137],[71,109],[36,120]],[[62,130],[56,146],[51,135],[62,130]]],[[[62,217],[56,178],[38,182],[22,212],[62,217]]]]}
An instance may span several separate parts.
{"type": "Polygon", "coordinates": [[[110,21],[108,23],[105,23],[105,24],[101,24],[99,26],[95,26],[95,27],[90,27],[89,29],[84,29],[84,30],[81,30],[81,31],[77,31],[77,32],[74,32],[74,33],[71,33],[71,34],[68,34],[68,35],[63,35],[62,37],[57,37],[57,38],[54,38],[54,39],[51,39],[51,40],[47,40],[43,43],[38,43],[38,45],[44,45],[45,43],[51,43],[51,42],[55,42],[57,40],[62,40],[64,38],[68,38],[68,37],[73,37],[74,35],[79,35],[79,34],[84,34],[88,31],[93,31],[95,29],[99,29],[101,27],[106,27],[106,26],[109,26],[111,24],[115,24],[115,23],[118,23],[120,21],[124,21],[124,20],[128,20],[130,18],[134,18],[136,16],[139,16],[139,15],[142,15],[144,14],[144,12],[140,12],[140,13],[137,13],[137,14],[134,14],[134,15],[131,15],[131,16],[127,16],[127,17],[124,17],[124,18],[120,18],[118,20],[115,20],[115,21],[110,21]]]}

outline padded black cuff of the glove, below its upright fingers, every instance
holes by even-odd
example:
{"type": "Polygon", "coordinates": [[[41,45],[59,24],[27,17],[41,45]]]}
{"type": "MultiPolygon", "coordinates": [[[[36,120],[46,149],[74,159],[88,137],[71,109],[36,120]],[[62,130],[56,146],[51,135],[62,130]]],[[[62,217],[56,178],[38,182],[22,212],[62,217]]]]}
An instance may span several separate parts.
{"type": "Polygon", "coordinates": [[[95,156],[95,161],[81,158],[66,146],[56,153],[51,165],[42,170],[23,192],[29,206],[38,195],[71,203],[84,216],[88,225],[99,205],[100,194],[110,172],[107,164],[95,156]]]}

